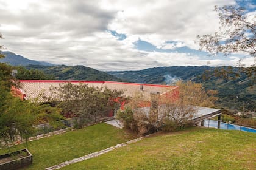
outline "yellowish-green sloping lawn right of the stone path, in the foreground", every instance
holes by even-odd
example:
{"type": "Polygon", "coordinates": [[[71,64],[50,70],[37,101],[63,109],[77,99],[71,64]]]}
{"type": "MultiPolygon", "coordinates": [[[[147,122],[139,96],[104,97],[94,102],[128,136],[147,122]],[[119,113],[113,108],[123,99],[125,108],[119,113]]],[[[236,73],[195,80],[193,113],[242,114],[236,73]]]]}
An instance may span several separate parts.
{"type": "Polygon", "coordinates": [[[62,169],[256,169],[256,134],[196,127],[144,138],[62,169]]]}

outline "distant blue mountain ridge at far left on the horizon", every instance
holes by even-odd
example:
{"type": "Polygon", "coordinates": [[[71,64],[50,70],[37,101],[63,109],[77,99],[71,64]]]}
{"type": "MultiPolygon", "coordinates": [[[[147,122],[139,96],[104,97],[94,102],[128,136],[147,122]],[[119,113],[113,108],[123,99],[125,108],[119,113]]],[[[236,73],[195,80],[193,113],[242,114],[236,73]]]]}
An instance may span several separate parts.
{"type": "Polygon", "coordinates": [[[5,58],[0,59],[0,63],[9,63],[11,66],[28,66],[28,65],[40,65],[40,66],[54,66],[54,64],[47,63],[44,61],[35,61],[24,58],[21,55],[16,55],[12,52],[1,52],[5,55],[5,58]]]}

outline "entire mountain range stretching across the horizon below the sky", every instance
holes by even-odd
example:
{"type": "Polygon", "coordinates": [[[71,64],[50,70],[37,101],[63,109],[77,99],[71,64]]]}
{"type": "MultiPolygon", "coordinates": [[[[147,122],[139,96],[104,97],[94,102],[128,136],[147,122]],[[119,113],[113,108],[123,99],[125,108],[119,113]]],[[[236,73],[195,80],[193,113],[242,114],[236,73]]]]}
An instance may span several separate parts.
{"type": "MultiPolygon", "coordinates": [[[[229,78],[216,77],[213,74],[215,70],[223,67],[171,66],[138,71],[101,72],[85,66],[52,66],[53,64],[28,60],[11,52],[3,53],[5,58],[1,59],[0,62],[8,62],[10,65],[23,65],[27,70],[30,70],[29,74],[23,70],[24,74],[21,77],[26,75],[26,78],[34,79],[33,74],[38,70],[44,73],[46,77],[52,77],[56,80],[105,80],[152,84],[174,84],[178,80],[193,81],[202,83],[205,89],[218,90],[219,107],[231,110],[256,110],[256,87],[253,86],[255,77],[247,77],[244,74],[239,76],[229,75],[229,78]],[[205,75],[208,77],[207,79],[204,78],[205,75]]],[[[232,67],[232,69],[238,70],[235,67],[232,67]]],[[[42,73],[38,71],[36,73],[43,77],[41,76],[42,73]]]]}

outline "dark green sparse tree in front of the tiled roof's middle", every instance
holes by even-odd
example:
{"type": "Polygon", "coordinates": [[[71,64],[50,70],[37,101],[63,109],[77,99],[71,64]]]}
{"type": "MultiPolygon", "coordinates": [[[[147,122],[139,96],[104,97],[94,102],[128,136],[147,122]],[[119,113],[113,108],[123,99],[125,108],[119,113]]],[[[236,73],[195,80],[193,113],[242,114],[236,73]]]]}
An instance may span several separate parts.
{"type": "Polygon", "coordinates": [[[50,101],[60,101],[57,107],[63,109],[63,114],[73,114],[77,117],[77,127],[82,128],[86,123],[105,117],[118,106],[116,98],[122,98],[122,91],[110,90],[107,87],[94,87],[88,84],[60,84],[52,87],[50,101]]]}

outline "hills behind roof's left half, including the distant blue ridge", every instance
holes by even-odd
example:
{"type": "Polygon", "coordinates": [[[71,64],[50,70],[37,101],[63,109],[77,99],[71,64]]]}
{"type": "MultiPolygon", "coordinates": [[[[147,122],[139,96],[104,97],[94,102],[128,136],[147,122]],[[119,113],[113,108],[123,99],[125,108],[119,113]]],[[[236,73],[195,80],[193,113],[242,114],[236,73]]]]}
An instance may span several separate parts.
{"type": "Polygon", "coordinates": [[[105,80],[124,81],[108,73],[85,66],[54,66],[43,61],[35,61],[16,55],[12,52],[2,52],[4,58],[0,63],[8,63],[13,69],[18,70],[17,78],[20,79],[55,79],[55,80],[105,80]],[[26,70],[23,67],[24,66],[26,70]]]}

